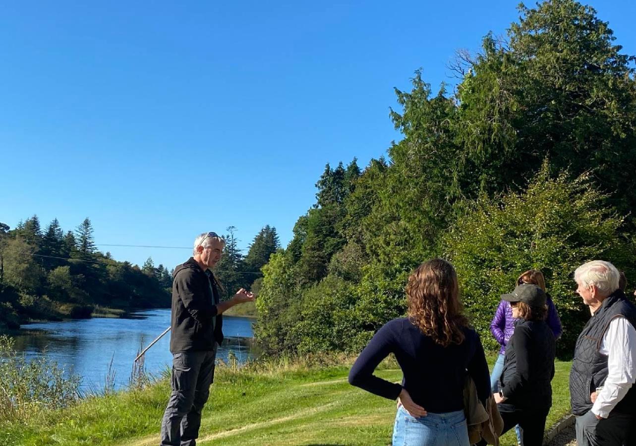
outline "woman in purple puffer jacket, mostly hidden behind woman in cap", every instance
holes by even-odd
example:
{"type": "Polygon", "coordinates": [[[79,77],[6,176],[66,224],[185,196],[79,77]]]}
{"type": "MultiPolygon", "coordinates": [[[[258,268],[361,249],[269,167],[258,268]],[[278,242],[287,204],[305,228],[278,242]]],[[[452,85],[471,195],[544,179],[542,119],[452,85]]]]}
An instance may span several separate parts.
{"type": "MultiPolygon", "coordinates": [[[[519,276],[515,286],[522,285],[524,283],[536,285],[543,289],[543,291],[546,291],[546,279],[544,279],[543,273],[539,270],[527,270],[519,276]]],[[[548,305],[546,323],[551,328],[556,339],[563,331],[561,327],[561,320],[556,312],[555,304],[552,302],[552,299],[547,292],[546,296],[546,303],[548,305]]],[[[501,345],[501,349],[499,349],[499,357],[497,357],[495,366],[492,368],[492,375],[490,375],[490,387],[492,388],[493,393],[497,393],[499,390],[497,389],[497,381],[501,377],[502,370],[504,370],[504,353],[506,352],[506,345],[508,345],[508,341],[515,331],[515,322],[516,319],[513,318],[513,310],[510,307],[510,302],[502,299],[501,302],[499,302],[497,311],[495,312],[495,317],[492,318],[492,322],[490,323],[490,333],[492,333],[497,342],[499,342],[499,345],[501,345]]],[[[516,428],[516,435],[517,442],[522,444],[519,426],[516,428]]]]}

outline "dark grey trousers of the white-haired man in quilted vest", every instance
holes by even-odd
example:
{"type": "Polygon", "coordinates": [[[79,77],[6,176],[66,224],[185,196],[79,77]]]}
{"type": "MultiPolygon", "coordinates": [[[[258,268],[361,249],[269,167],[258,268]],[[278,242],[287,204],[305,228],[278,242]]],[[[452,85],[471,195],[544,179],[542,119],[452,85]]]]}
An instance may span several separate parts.
{"type": "Polygon", "coordinates": [[[612,414],[598,420],[590,410],[576,417],[577,446],[623,446],[632,424],[632,415],[612,414]]]}

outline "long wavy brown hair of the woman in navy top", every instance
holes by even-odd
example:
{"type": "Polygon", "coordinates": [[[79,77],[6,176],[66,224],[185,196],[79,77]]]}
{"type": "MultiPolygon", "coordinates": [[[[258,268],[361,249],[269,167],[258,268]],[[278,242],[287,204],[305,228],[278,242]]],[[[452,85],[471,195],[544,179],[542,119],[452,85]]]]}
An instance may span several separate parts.
{"type": "Polygon", "coordinates": [[[436,258],[425,261],[408,277],[408,317],[436,344],[447,347],[464,341],[468,321],[459,302],[459,284],[453,265],[436,258]]]}

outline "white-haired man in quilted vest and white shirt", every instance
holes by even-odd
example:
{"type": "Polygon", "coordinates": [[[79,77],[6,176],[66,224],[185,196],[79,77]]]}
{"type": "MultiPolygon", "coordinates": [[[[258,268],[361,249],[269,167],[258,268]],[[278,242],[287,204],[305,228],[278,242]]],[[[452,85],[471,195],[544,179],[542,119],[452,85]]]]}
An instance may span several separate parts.
{"type": "Polygon", "coordinates": [[[591,313],[576,341],[570,372],[576,442],[624,445],[636,414],[636,307],[618,286],[618,270],[607,261],[584,263],[574,280],[591,313]]]}

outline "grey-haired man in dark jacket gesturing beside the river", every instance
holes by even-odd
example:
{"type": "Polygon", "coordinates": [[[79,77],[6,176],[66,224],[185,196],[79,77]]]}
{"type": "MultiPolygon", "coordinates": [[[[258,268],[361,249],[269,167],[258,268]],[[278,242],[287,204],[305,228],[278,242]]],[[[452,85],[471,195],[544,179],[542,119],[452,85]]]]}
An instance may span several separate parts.
{"type": "Polygon", "coordinates": [[[240,289],[219,300],[212,267],[221,259],[225,240],[215,232],[195,239],[193,256],[174,269],[172,282],[172,393],[163,414],[161,446],[195,446],[201,410],[214,379],[216,349],[223,341],[221,314],[254,295],[240,289]]]}

